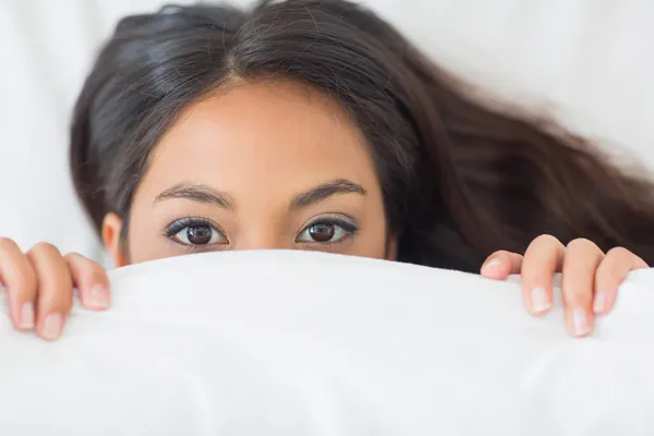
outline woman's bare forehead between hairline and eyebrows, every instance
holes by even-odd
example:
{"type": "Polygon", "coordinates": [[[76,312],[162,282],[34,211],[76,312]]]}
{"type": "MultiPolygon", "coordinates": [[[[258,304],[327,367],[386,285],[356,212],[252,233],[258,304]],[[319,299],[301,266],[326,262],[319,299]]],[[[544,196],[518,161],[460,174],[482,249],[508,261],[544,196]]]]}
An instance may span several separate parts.
{"type": "Polygon", "coordinates": [[[291,82],[239,83],[191,105],[157,145],[144,183],[296,191],[347,178],[376,183],[367,146],[330,98],[291,82]]]}

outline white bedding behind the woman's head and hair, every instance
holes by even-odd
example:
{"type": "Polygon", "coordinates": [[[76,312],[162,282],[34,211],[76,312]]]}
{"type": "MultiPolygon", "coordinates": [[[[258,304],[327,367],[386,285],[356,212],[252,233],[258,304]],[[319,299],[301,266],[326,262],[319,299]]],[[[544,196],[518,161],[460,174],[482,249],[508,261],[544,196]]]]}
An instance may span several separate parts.
{"type": "MultiPolygon", "coordinates": [[[[182,3],[186,1],[180,1],[182,3]]],[[[0,0],[0,234],[97,256],[68,172],[70,112],[116,21],[156,0],[0,0]]],[[[249,3],[249,2],[237,2],[249,3]]],[[[366,0],[435,60],[654,165],[651,0],[366,0]]]]}

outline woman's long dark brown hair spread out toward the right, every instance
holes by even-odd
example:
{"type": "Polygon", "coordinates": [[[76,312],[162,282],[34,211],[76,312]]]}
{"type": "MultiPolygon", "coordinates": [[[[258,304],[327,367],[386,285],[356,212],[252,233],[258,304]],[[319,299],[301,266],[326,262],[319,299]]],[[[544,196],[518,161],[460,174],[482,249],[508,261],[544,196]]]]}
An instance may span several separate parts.
{"type": "MultiPolygon", "coordinates": [[[[70,159],[95,227],[129,219],[157,141],[230,81],[283,77],[335,98],[366,138],[398,261],[476,271],[540,234],[654,264],[654,186],[584,140],[473,97],[392,26],[344,0],[169,5],[126,16],[77,99],[70,159]]],[[[497,105],[495,105],[497,106],[497,105]]]]}

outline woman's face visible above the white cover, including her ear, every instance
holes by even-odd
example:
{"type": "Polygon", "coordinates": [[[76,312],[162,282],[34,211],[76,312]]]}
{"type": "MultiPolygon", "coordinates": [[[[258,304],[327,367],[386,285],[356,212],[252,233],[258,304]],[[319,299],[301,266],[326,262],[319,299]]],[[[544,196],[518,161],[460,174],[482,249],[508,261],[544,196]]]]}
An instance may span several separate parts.
{"type": "Polygon", "coordinates": [[[117,266],[222,250],[318,250],[392,258],[382,192],[359,130],[288,82],[240,83],[189,107],[104,239],[117,266]]]}

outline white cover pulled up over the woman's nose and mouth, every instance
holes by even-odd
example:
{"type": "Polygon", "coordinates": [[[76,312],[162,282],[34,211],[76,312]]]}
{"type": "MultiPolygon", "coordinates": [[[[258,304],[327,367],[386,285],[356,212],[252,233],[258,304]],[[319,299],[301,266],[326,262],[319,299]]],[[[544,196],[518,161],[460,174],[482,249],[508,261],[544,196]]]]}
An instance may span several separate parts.
{"type": "Polygon", "coordinates": [[[519,286],[301,252],[111,272],[61,340],[0,316],[0,434],[651,435],[654,271],[594,337],[519,286]]]}

